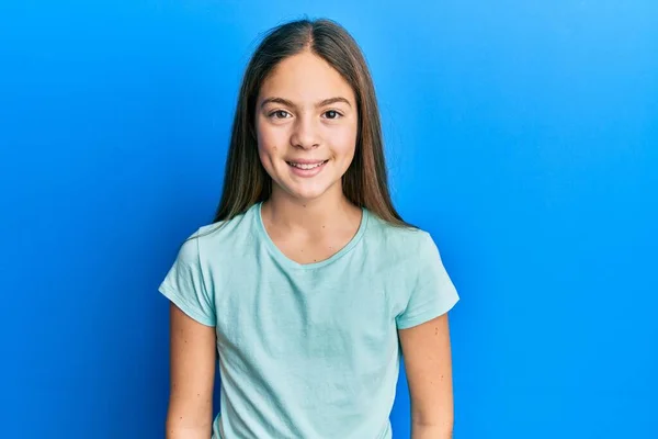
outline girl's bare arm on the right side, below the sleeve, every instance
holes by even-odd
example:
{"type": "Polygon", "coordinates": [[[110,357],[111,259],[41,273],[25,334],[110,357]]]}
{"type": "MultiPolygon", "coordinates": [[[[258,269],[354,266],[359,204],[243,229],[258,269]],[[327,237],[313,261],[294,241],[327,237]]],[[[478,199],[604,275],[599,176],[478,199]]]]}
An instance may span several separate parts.
{"type": "Polygon", "coordinates": [[[400,329],[411,396],[411,438],[450,439],[453,431],[452,359],[447,314],[400,329]]]}

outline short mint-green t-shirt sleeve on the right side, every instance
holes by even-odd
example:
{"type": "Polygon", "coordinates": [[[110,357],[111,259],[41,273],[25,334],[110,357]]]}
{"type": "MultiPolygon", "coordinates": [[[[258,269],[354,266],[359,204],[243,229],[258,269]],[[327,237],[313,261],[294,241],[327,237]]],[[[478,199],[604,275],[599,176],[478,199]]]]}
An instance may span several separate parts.
{"type": "Polygon", "coordinates": [[[396,317],[398,329],[410,328],[443,315],[460,300],[434,240],[427,232],[420,234],[415,254],[418,270],[411,282],[407,306],[396,317]]]}

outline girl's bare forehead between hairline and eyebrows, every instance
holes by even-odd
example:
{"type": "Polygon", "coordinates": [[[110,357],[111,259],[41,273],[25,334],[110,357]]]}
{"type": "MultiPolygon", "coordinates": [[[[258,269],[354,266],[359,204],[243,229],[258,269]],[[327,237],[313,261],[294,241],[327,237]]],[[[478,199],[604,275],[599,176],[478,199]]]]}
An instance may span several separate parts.
{"type": "Polygon", "coordinates": [[[272,95],[299,102],[316,102],[338,95],[354,101],[352,88],[343,77],[329,63],[310,52],[279,63],[260,90],[261,99],[272,95]]]}

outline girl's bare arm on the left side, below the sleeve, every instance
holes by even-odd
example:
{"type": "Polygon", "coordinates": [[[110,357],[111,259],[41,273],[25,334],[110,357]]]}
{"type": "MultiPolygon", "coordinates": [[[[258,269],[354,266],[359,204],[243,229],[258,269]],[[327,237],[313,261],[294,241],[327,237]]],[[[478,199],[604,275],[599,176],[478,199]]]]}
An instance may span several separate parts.
{"type": "Polygon", "coordinates": [[[170,304],[170,385],[167,439],[208,439],[213,424],[215,328],[170,304]]]}

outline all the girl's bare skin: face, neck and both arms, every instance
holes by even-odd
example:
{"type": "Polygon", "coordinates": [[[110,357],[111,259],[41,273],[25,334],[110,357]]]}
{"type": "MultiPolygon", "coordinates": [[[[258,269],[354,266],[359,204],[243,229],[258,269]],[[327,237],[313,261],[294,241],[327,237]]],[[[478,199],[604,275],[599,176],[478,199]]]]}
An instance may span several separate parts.
{"type": "MultiPolygon", "coordinates": [[[[284,59],[263,82],[256,109],[261,164],[273,180],[262,218],[277,248],[314,263],[344,247],[361,209],[342,193],[356,145],[358,110],[348,82],[304,52],[284,59]],[[338,98],[338,99],[334,99],[338,98]],[[328,160],[315,177],[290,161],[328,160]]],[[[207,439],[212,426],[216,335],[171,305],[171,397],[168,439],[207,439]]],[[[447,316],[399,331],[411,396],[412,439],[452,436],[453,399],[447,316]]]]}

